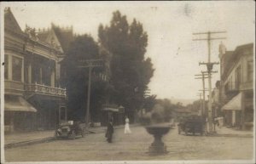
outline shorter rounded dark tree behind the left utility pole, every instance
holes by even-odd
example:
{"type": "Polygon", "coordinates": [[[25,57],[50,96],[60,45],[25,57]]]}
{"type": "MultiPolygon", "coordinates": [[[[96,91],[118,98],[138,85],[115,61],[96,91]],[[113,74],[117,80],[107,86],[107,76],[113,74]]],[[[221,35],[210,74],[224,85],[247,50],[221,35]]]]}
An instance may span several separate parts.
{"type": "MultiPolygon", "coordinates": [[[[62,61],[66,72],[62,80],[67,87],[67,107],[69,117],[74,120],[84,121],[87,104],[88,68],[80,68],[81,60],[99,59],[99,47],[92,37],[83,35],[76,37],[62,61]]],[[[92,70],[90,91],[90,114],[93,121],[99,121],[98,113],[106,98],[107,82],[99,78],[101,69],[92,70]]]]}

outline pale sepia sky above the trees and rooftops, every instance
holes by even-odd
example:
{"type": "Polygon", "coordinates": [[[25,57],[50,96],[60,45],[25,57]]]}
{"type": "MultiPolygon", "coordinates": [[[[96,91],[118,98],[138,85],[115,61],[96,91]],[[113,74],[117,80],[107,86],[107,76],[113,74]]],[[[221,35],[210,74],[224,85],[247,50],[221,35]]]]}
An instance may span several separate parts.
{"type": "MultiPolygon", "coordinates": [[[[148,84],[151,94],[159,99],[199,99],[202,86],[195,74],[206,71],[207,41],[193,41],[206,35],[195,32],[226,31],[212,37],[226,37],[211,42],[211,61],[219,61],[218,45],[227,50],[255,41],[255,3],[253,1],[191,1],[191,2],[5,2],[20,28],[26,25],[48,28],[51,22],[73,25],[73,32],[90,34],[97,41],[98,26],[109,25],[114,11],[135,18],[148,33],[146,57],[152,59],[154,76],[148,84]]],[[[255,42],[254,42],[255,43],[255,42]]],[[[255,44],[254,44],[255,45],[255,44]]],[[[219,65],[214,65],[219,71],[219,65]]],[[[212,86],[219,73],[212,78],[212,86]]],[[[207,83],[207,82],[206,82],[207,83]]]]}

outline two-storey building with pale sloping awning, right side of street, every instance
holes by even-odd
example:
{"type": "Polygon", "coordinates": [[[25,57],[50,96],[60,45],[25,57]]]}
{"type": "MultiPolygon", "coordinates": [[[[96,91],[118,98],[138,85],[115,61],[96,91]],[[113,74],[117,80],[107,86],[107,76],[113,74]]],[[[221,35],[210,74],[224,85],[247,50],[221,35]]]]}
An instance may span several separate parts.
{"type": "Polygon", "coordinates": [[[225,51],[220,46],[221,110],[227,126],[253,127],[253,43],[225,51]]]}

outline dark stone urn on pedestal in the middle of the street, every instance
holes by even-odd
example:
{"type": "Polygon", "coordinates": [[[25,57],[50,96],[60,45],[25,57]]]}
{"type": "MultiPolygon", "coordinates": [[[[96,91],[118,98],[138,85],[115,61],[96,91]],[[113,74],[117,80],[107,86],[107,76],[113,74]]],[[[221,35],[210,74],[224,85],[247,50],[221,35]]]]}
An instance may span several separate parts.
{"type": "Polygon", "coordinates": [[[150,125],[145,127],[147,132],[154,136],[154,142],[149,146],[148,151],[151,155],[166,154],[166,144],[162,141],[162,136],[169,133],[169,125],[150,125]]]}

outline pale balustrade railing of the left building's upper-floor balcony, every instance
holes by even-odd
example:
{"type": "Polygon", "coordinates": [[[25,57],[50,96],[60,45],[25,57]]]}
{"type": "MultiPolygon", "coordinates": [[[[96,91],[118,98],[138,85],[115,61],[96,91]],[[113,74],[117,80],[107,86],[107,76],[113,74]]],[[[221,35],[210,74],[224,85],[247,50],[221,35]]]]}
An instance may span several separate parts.
{"type": "Polygon", "coordinates": [[[67,91],[64,88],[53,88],[42,84],[26,84],[25,91],[29,93],[38,93],[57,97],[66,97],[67,91]]]}

